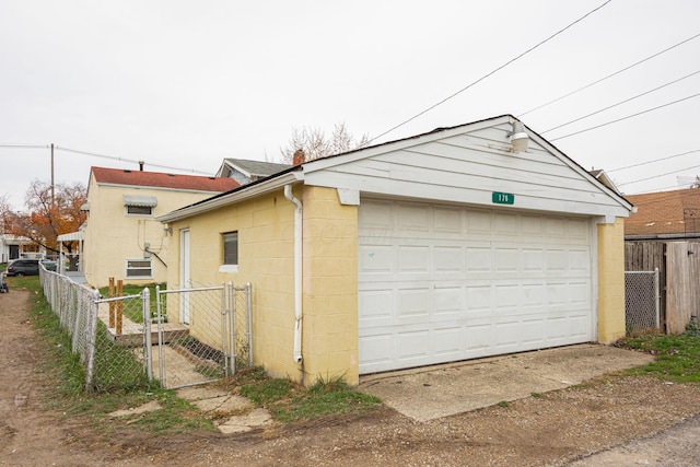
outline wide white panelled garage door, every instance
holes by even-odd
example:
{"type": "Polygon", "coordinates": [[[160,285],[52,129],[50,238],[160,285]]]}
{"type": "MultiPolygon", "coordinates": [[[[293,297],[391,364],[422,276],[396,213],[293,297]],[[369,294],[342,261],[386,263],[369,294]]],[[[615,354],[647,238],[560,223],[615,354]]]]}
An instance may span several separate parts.
{"type": "Polygon", "coordinates": [[[591,221],[362,200],[360,373],[593,339],[591,221]]]}

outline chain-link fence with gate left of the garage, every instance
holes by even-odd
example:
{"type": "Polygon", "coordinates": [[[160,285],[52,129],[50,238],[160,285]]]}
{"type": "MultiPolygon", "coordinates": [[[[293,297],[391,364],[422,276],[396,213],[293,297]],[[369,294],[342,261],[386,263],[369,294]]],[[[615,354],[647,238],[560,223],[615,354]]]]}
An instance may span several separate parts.
{"type": "Polygon", "coordinates": [[[250,284],[102,297],[56,272],[42,269],[39,278],[80,355],[88,390],[198,385],[252,362],[250,284]]]}

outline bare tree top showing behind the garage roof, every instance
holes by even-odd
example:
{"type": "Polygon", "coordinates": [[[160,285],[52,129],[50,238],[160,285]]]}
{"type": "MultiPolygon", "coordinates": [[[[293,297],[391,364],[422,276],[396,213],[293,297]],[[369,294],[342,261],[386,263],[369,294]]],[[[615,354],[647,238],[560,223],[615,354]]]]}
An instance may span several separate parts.
{"type": "Polygon", "coordinates": [[[287,145],[280,148],[280,152],[282,162],[291,164],[294,160],[294,153],[300,149],[304,151],[306,161],[314,161],[327,155],[352,151],[366,144],[369,140],[369,135],[363,135],[360,139],[355,139],[345,122],[337,124],[330,137],[326,136],[324,130],[319,128],[302,127],[301,129],[292,129],[292,136],[287,145]]]}

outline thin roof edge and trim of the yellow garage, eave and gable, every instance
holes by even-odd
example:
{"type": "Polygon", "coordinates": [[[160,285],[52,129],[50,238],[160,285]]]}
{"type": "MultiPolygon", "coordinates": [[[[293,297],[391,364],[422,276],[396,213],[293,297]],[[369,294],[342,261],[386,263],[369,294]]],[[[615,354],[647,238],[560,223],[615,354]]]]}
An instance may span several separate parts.
{"type": "MultiPolygon", "coordinates": [[[[238,188],[234,188],[231,191],[222,192],[220,195],[215,195],[211,198],[198,201],[196,203],[185,206],[175,211],[172,211],[167,214],[156,218],[156,220],[161,222],[171,222],[178,219],[185,219],[190,215],[195,215],[201,212],[207,212],[212,209],[217,209],[222,206],[226,206],[229,203],[238,202],[243,199],[248,199],[255,197],[262,192],[269,192],[273,189],[279,189],[283,185],[293,184],[298,182],[304,182],[305,177],[313,173],[314,171],[323,171],[328,167],[332,167],[334,165],[342,164],[353,160],[360,160],[364,157],[371,157],[373,155],[385,153],[388,151],[397,151],[402,148],[408,148],[421,142],[430,142],[434,140],[439,140],[450,135],[457,135],[459,131],[470,129],[470,128],[479,128],[487,127],[489,125],[498,124],[499,121],[513,121],[517,120],[514,116],[505,114],[497,117],[485,118],[481,120],[472,121],[469,124],[456,125],[452,127],[440,127],[435,128],[432,131],[428,131],[420,135],[415,135],[411,137],[384,142],[381,144],[375,144],[365,148],[359,148],[352,151],[332,154],[325,157],[316,159],[313,161],[308,161],[299,165],[288,166],[287,170],[275,173],[266,178],[261,178],[259,180],[253,182],[247,185],[242,185],[238,188]]],[[[606,192],[611,198],[616,199],[617,202],[626,209],[628,212],[632,209],[632,205],[617,191],[617,189],[607,186],[602,180],[591,175],[585,168],[583,168],[579,163],[570,159],[563,152],[558,150],[553,144],[547,141],[545,138],[540,137],[537,132],[527,128],[528,132],[537,138],[537,141],[541,144],[550,148],[552,154],[556,154],[561,160],[565,160],[567,164],[572,166],[576,172],[579,172],[584,178],[587,178],[591,183],[602,188],[604,192],[606,192]]],[[[226,160],[229,161],[229,160],[226,160]]],[[[614,186],[614,185],[612,185],[614,186]]]]}

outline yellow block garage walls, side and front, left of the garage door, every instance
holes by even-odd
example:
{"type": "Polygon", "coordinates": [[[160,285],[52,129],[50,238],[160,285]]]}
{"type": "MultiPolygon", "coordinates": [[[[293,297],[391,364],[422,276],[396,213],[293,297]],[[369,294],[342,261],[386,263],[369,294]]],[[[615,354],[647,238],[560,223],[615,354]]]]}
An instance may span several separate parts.
{"type": "MultiPolygon", "coordinates": [[[[341,206],[335,189],[296,186],[293,194],[303,203],[301,364],[293,359],[294,206],[282,189],[174,222],[177,254],[167,281],[179,281],[179,232],[188,229],[194,282],[253,285],[254,364],[304,384],[336,376],[357,384],[357,207],[341,206]],[[233,231],[238,232],[238,269],[221,272],[222,234],[233,231]]],[[[196,326],[190,330],[196,334],[196,326]]]]}

